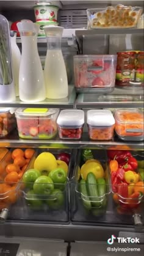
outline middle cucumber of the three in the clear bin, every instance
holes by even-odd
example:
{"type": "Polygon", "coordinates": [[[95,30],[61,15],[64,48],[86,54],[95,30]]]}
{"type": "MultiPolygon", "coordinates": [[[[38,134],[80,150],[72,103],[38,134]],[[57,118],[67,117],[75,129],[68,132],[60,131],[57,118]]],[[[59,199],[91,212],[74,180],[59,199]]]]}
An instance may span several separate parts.
{"type": "Polygon", "coordinates": [[[95,175],[92,172],[89,172],[87,175],[87,189],[88,189],[88,196],[92,197],[92,206],[93,207],[100,207],[101,203],[99,202],[98,198],[98,188],[95,175]]]}

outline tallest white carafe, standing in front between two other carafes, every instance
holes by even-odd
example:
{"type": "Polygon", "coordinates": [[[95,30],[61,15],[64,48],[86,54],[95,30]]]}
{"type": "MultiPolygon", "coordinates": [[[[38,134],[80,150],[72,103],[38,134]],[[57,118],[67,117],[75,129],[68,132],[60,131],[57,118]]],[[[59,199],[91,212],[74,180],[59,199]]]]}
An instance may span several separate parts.
{"type": "Polygon", "coordinates": [[[37,49],[38,27],[32,21],[17,24],[21,35],[22,53],[19,73],[20,100],[42,101],[46,98],[45,80],[37,49]]]}

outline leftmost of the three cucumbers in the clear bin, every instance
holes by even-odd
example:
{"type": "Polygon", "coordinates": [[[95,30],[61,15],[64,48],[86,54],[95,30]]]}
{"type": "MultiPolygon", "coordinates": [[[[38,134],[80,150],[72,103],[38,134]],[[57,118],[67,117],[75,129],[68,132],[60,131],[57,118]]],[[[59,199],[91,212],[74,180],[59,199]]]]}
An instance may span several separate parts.
{"type": "Polygon", "coordinates": [[[86,181],[82,179],[79,184],[80,184],[80,190],[81,190],[81,193],[82,193],[81,194],[82,203],[83,203],[85,208],[90,210],[91,209],[91,202],[90,202],[90,199],[89,199],[88,193],[87,193],[86,181]]]}

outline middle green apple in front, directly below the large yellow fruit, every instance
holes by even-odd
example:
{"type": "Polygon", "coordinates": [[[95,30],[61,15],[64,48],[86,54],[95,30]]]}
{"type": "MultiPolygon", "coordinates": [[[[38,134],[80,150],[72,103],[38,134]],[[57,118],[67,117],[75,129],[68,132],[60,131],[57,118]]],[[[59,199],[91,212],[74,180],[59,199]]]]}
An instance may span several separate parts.
{"type": "Polygon", "coordinates": [[[35,180],[33,189],[37,195],[49,196],[54,189],[54,183],[50,177],[41,175],[35,180]]]}

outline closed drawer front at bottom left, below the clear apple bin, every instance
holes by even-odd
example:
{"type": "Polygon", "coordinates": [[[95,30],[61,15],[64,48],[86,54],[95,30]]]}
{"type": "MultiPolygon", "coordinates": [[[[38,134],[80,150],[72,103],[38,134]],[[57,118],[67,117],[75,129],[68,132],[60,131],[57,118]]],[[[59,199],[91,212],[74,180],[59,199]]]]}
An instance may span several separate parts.
{"type": "Polygon", "coordinates": [[[0,236],[0,248],[10,256],[66,256],[67,246],[63,241],[0,236]]]}

